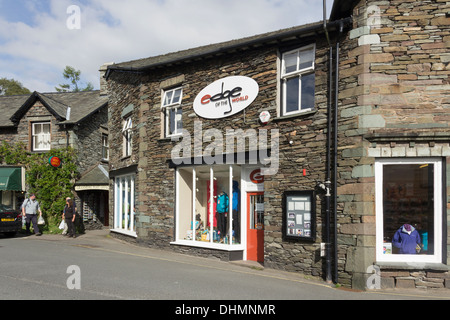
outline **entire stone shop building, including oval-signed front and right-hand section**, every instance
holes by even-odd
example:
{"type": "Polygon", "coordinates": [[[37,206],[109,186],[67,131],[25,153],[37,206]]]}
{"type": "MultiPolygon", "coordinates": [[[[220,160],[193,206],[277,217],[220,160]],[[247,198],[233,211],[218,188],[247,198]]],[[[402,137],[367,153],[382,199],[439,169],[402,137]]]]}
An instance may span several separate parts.
{"type": "Polygon", "coordinates": [[[358,289],[449,287],[448,10],[336,0],[325,29],[109,65],[113,234],[358,289]],[[254,100],[239,95],[248,79],[254,100]],[[247,99],[230,116],[201,112],[247,99]],[[225,232],[214,220],[221,192],[230,207],[240,200],[225,232]],[[420,231],[419,254],[397,251],[403,225],[420,231]]]}

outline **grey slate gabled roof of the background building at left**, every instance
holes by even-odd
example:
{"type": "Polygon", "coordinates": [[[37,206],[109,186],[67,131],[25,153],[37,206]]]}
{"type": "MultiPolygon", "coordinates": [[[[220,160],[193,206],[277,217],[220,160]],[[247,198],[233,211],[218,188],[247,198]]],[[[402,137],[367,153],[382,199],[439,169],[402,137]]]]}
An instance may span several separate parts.
{"type": "Polygon", "coordinates": [[[29,95],[0,96],[0,127],[13,127],[36,102],[42,104],[52,113],[59,124],[77,124],[108,103],[100,91],[39,93],[29,95]],[[70,116],[67,119],[68,108],[70,116]]]}

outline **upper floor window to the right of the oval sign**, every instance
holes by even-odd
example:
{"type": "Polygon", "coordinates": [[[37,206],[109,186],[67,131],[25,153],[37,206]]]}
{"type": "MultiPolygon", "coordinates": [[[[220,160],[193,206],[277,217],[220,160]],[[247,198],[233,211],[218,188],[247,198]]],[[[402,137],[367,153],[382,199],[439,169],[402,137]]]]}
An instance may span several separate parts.
{"type": "Polygon", "coordinates": [[[291,50],[282,55],[282,115],[314,109],[315,45],[291,50]]]}

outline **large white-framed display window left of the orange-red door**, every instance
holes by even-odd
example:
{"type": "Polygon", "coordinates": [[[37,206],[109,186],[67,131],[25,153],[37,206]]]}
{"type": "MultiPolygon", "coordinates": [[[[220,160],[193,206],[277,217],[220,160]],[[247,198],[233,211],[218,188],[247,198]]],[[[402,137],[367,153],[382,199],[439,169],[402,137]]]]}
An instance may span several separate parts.
{"type": "Polygon", "coordinates": [[[179,168],[176,242],[210,248],[241,244],[241,167],[179,168]]]}

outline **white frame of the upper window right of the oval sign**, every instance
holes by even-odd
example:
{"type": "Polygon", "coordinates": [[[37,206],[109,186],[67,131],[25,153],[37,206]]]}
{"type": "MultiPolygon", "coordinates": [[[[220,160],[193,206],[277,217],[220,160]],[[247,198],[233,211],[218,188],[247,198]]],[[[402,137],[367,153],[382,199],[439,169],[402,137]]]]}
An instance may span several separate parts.
{"type": "Polygon", "coordinates": [[[307,112],[307,111],[312,111],[314,110],[314,106],[310,107],[310,108],[302,108],[301,106],[301,101],[302,101],[302,76],[307,76],[310,75],[312,73],[315,72],[315,56],[316,56],[316,45],[315,44],[311,44],[308,46],[304,46],[301,48],[297,48],[295,50],[291,50],[291,51],[287,51],[287,52],[283,52],[281,54],[281,90],[282,90],[282,101],[281,101],[281,116],[289,116],[289,115],[294,115],[294,114],[298,114],[298,113],[303,113],[303,112],[307,112]],[[300,69],[300,52],[304,52],[304,51],[312,51],[313,53],[313,61],[312,61],[312,65],[310,67],[307,68],[303,68],[300,69]],[[292,72],[286,72],[286,61],[285,61],[285,56],[286,55],[290,55],[292,53],[297,53],[297,69],[295,71],[292,72]],[[298,101],[299,101],[299,105],[298,105],[298,109],[294,110],[294,111],[290,111],[287,112],[286,111],[286,107],[287,107],[287,81],[289,79],[293,79],[293,78],[299,78],[299,92],[298,92],[298,101]]]}

